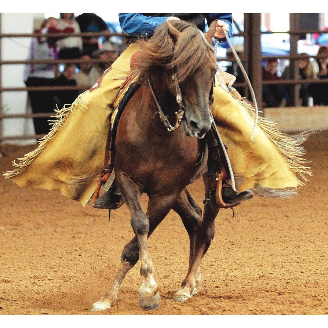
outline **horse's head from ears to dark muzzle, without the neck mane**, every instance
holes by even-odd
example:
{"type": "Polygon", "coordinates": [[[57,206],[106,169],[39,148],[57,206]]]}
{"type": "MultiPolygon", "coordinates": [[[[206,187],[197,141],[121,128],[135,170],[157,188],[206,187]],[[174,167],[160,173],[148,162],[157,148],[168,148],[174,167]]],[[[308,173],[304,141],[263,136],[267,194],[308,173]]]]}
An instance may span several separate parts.
{"type": "Polygon", "coordinates": [[[205,34],[194,26],[185,27],[181,32],[178,22],[173,22],[177,28],[167,23],[175,39],[172,66],[177,76],[177,81],[171,80],[170,89],[174,94],[174,84],[179,83],[185,107],[185,118],[182,121],[185,133],[203,138],[213,121],[210,105],[217,65],[210,44],[215,34],[216,21],[212,22],[205,34]]]}

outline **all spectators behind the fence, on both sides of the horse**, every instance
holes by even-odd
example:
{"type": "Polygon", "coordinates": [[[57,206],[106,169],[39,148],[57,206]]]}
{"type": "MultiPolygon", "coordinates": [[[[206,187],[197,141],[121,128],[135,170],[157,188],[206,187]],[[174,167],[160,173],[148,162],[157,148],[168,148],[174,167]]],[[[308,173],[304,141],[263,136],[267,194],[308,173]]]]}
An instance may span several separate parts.
{"type": "MultiPolygon", "coordinates": [[[[30,53],[27,60],[45,59],[81,59],[77,65],[55,64],[27,64],[24,69],[24,81],[27,87],[38,86],[81,86],[79,90],[48,90],[29,91],[32,113],[46,113],[56,107],[62,108],[71,104],[78,94],[89,89],[103,72],[118,57],[117,45],[106,37],[99,43],[99,37],[72,36],[72,33],[108,31],[104,20],[94,13],[83,13],[77,17],[73,13],[60,13],[60,18],[49,17],[41,22],[38,29],[39,37],[32,38],[30,53]],[[65,37],[44,37],[44,34],[65,33],[65,37]],[[102,59],[103,62],[91,63],[91,59],[102,59]],[[64,67],[64,69],[59,69],[64,67]],[[61,72],[62,71],[62,72],[61,72]]],[[[238,55],[242,55],[243,46],[236,45],[238,55]]],[[[320,47],[318,55],[327,57],[316,58],[310,61],[306,53],[302,53],[297,63],[300,79],[327,79],[328,78],[328,48],[320,47]]],[[[232,52],[227,51],[228,59],[232,52]]],[[[277,74],[278,60],[268,59],[262,68],[263,81],[277,81],[275,84],[263,85],[263,106],[284,107],[290,104],[290,88],[279,83],[283,79],[290,79],[290,69],[287,66],[282,74],[277,74]],[[281,75],[281,76],[280,76],[281,75]]],[[[244,76],[235,60],[227,67],[227,72],[236,76],[236,83],[244,82],[244,76]]],[[[245,95],[244,88],[237,88],[241,96],[245,95]]],[[[299,98],[302,106],[328,105],[328,83],[301,84],[299,98]]],[[[36,134],[49,131],[48,118],[34,118],[36,134]]]]}

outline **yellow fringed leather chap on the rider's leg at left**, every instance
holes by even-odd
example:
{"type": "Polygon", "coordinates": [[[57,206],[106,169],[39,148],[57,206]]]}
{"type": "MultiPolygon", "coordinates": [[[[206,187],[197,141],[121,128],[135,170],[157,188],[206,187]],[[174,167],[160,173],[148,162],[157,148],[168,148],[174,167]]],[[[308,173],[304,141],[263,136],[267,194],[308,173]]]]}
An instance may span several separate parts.
{"type": "Polygon", "coordinates": [[[95,173],[104,168],[112,104],[138,50],[131,44],[90,90],[57,111],[50,133],[8,174],[16,184],[55,190],[83,205],[89,201],[95,173]]]}

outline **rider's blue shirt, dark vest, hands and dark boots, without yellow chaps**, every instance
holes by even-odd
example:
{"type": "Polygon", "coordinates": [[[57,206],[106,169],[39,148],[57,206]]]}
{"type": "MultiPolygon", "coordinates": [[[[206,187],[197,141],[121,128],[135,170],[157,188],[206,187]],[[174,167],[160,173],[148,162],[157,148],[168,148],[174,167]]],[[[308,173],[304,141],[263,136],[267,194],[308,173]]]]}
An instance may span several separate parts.
{"type": "MultiPolygon", "coordinates": [[[[150,37],[154,30],[166,21],[172,20],[184,20],[190,23],[194,23],[201,31],[205,29],[205,19],[210,26],[211,22],[218,19],[216,24],[216,32],[214,37],[218,38],[219,42],[225,42],[224,32],[221,28],[224,28],[228,35],[231,36],[232,31],[232,14],[231,13],[120,13],[118,15],[122,31],[130,35],[130,43],[136,38],[150,37]]],[[[102,209],[115,208],[115,205],[119,202],[119,196],[114,194],[115,186],[105,192],[94,203],[93,207],[102,209]]],[[[249,191],[244,191],[237,195],[233,188],[224,184],[222,189],[223,201],[226,203],[236,203],[247,199],[249,191]]]]}

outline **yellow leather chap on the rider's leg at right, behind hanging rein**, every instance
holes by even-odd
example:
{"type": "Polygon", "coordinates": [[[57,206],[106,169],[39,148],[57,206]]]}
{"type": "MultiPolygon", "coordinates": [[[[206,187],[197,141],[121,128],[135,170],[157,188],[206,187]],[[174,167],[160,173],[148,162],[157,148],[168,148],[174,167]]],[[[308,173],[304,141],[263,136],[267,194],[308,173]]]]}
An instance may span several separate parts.
{"type": "Polygon", "coordinates": [[[259,117],[252,142],[254,109],[221,87],[217,80],[211,111],[226,146],[239,193],[254,188],[297,186],[295,174],[277,146],[279,134],[273,123],[265,123],[259,117]]]}

